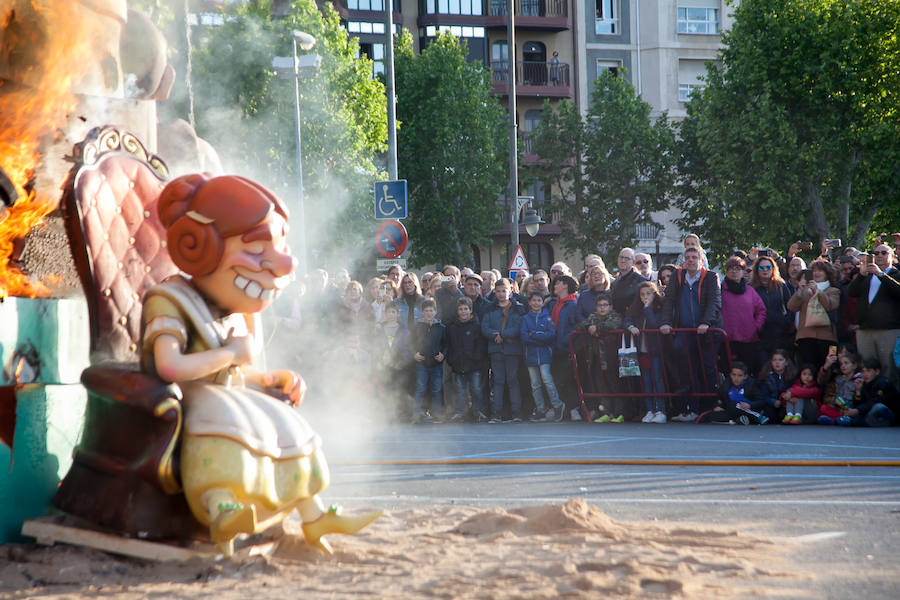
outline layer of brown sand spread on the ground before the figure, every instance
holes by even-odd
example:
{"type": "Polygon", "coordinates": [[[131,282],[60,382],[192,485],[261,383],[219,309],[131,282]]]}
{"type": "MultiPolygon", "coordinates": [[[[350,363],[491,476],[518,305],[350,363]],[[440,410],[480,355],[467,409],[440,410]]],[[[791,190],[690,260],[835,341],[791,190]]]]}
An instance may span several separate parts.
{"type": "Polygon", "coordinates": [[[514,510],[393,511],[357,536],[330,539],[333,557],[309,547],[299,523],[287,521],[272,557],[181,564],[62,545],[0,547],[0,597],[812,597],[787,572],[783,541],[615,522],[577,499],[514,510]]]}

